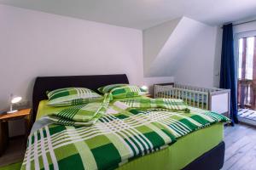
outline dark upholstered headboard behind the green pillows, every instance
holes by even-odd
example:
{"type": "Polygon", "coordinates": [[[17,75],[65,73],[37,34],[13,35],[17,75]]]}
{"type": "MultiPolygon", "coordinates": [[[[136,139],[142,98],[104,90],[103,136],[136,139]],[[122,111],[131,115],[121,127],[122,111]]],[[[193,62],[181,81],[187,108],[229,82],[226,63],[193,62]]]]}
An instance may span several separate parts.
{"type": "Polygon", "coordinates": [[[48,99],[46,91],[57,88],[90,88],[97,92],[97,88],[109,84],[129,83],[125,74],[72,76],[72,77],[37,77],[32,94],[32,123],[35,122],[39,102],[48,99]]]}

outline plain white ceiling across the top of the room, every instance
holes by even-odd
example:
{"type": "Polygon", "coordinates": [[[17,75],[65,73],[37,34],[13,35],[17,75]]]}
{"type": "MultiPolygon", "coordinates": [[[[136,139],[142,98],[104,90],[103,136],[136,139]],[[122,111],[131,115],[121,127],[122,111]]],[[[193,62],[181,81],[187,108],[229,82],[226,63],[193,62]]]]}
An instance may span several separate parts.
{"type": "Polygon", "coordinates": [[[212,26],[256,16],[256,0],[0,0],[0,3],[141,30],[182,16],[212,26]]]}

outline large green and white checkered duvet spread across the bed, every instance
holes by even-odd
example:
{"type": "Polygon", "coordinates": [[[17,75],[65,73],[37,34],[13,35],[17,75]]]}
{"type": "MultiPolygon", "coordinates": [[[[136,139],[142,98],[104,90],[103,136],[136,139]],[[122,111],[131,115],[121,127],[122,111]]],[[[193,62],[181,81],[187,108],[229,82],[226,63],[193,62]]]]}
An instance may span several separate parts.
{"type": "Polygon", "coordinates": [[[210,111],[158,110],[135,101],[110,103],[90,127],[50,124],[39,128],[29,136],[21,169],[115,169],[195,130],[230,121],[210,111]]]}

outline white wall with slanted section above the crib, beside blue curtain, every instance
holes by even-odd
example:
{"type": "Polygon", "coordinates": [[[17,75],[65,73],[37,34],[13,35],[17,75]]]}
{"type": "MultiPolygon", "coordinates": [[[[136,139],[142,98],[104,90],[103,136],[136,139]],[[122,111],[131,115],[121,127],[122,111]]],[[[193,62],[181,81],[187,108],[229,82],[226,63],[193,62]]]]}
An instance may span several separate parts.
{"type": "Polygon", "coordinates": [[[143,31],[144,75],[218,86],[220,28],[182,17],[143,31]]]}

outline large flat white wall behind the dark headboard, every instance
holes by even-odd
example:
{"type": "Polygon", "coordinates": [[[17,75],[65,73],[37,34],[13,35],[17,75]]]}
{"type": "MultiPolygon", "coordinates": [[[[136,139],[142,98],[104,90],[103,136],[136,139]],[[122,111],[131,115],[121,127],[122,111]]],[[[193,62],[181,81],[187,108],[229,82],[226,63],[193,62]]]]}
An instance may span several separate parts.
{"type": "Polygon", "coordinates": [[[10,93],[31,101],[38,76],[125,73],[143,84],[142,31],[5,5],[0,20],[0,111],[10,93]]]}

